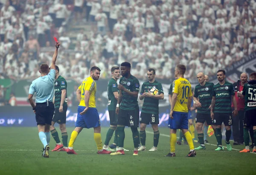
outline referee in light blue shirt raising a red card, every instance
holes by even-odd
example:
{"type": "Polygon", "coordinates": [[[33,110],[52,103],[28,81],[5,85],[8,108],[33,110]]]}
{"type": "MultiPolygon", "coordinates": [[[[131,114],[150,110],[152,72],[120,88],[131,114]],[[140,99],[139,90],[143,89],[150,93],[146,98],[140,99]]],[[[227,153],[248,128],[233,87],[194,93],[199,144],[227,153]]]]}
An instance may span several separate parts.
{"type": "Polygon", "coordinates": [[[55,52],[52,56],[52,65],[40,65],[39,72],[41,77],[35,79],[29,87],[29,103],[35,113],[35,120],[38,126],[39,138],[44,145],[43,157],[49,158],[49,142],[50,142],[50,125],[54,113],[54,104],[52,99],[54,96],[54,80],[55,80],[55,63],[58,55],[59,42],[55,43],[55,52]],[[36,93],[35,103],[33,95],[36,93]]]}

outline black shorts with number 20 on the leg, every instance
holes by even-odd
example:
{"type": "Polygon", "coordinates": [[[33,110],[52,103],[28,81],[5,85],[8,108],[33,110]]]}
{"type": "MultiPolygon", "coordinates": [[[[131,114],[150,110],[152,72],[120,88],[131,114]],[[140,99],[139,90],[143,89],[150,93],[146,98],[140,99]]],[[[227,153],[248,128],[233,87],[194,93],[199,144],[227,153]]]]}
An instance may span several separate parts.
{"type": "Polygon", "coordinates": [[[212,124],[221,125],[223,122],[225,126],[231,126],[232,120],[232,113],[214,113],[212,124]]]}

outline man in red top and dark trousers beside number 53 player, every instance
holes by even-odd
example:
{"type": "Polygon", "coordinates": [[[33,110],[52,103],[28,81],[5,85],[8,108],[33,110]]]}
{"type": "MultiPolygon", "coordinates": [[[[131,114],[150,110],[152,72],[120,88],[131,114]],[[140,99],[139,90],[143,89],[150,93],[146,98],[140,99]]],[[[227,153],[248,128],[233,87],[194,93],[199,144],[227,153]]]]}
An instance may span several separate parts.
{"type": "MultiPolygon", "coordinates": [[[[238,108],[238,116],[233,118],[233,137],[234,137],[234,145],[239,145],[244,143],[244,131],[243,131],[243,118],[244,118],[244,99],[241,99],[237,96],[237,92],[241,92],[244,88],[244,84],[247,83],[248,76],[247,73],[241,73],[240,80],[233,84],[235,88],[235,96],[236,96],[236,104],[238,108]]],[[[234,110],[234,105],[232,103],[232,109],[234,110]]],[[[250,135],[253,132],[250,130],[250,135]]]]}

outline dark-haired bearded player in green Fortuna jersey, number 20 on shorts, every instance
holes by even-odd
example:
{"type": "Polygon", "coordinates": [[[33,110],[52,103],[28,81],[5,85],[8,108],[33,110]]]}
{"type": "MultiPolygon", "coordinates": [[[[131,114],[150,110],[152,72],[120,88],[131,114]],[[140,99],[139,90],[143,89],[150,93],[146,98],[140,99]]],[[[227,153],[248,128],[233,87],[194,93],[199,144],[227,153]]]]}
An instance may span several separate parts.
{"type": "Polygon", "coordinates": [[[224,123],[226,127],[226,144],[227,150],[231,151],[230,144],[231,125],[232,125],[232,110],[231,99],[234,104],[235,110],[233,115],[237,116],[238,110],[236,105],[235,90],[231,83],[225,81],[226,71],[219,70],[217,72],[218,84],[214,85],[212,91],[212,103],[211,103],[211,118],[212,126],[216,128],[215,136],[218,142],[218,148],[215,151],[223,150],[222,147],[222,135],[221,124],[224,123]],[[215,126],[214,126],[215,125],[215,126]]]}

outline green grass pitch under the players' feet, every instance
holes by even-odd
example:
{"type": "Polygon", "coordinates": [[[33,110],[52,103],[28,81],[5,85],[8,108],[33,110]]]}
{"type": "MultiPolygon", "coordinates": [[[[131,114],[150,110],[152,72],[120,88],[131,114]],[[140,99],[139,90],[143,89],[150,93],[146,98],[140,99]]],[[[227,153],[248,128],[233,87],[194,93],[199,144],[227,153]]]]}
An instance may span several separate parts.
{"type": "MultiPolygon", "coordinates": [[[[56,125],[56,127],[58,124],[56,125]]],[[[58,129],[57,129],[58,130],[58,129]]],[[[73,128],[67,128],[70,134],[73,128]]],[[[102,128],[102,142],[108,128],[102,128]]],[[[98,155],[93,140],[93,129],[84,129],[74,144],[78,155],[50,152],[50,158],[41,157],[42,144],[36,127],[0,127],[0,175],[253,175],[256,173],[256,154],[239,153],[243,145],[214,151],[215,137],[210,137],[207,150],[197,151],[194,158],[186,158],[188,145],[176,145],[176,157],[164,157],[169,152],[169,129],[160,128],[156,152],[143,151],[133,156],[131,130],[125,128],[125,155],[98,155]]],[[[152,129],[148,126],[146,148],[153,146],[152,129]]],[[[61,138],[60,130],[58,130],[61,138]]],[[[111,140],[111,143],[113,138],[111,140]]],[[[110,143],[110,144],[111,144],[110,143]]],[[[224,141],[223,141],[224,144],[224,141]]],[[[195,143],[195,147],[199,144],[195,143]]],[[[225,146],[225,144],[224,144],[225,146]]],[[[50,149],[55,147],[51,137],[50,149]]],[[[252,150],[251,150],[252,151],[252,150]]]]}

